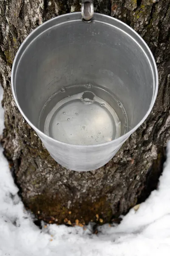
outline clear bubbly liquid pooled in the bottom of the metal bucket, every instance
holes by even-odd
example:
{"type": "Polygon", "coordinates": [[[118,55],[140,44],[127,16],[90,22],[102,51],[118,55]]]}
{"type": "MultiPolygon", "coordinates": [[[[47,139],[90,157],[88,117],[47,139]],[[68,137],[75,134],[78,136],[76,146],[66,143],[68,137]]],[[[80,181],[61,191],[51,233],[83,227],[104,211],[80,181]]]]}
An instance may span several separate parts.
{"type": "Polygon", "coordinates": [[[125,134],[128,122],[125,108],[113,93],[87,83],[54,93],[42,108],[39,126],[55,140],[95,145],[125,134]]]}

